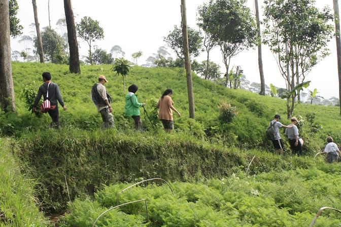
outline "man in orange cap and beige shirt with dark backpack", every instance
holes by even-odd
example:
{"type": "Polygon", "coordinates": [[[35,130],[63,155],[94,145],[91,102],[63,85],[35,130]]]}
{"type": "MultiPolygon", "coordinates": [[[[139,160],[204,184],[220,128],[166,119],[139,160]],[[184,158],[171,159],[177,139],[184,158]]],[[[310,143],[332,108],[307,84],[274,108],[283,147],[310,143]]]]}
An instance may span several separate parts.
{"type": "Polygon", "coordinates": [[[91,99],[102,117],[103,128],[107,129],[114,127],[115,123],[114,116],[112,115],[113,109],[108,100],[109,94],[107,94],[106,87],[104,86],[105,83],[108,83],[107,78],[104,75],[100,75],[98,83],[92,86],[91,99]]]}

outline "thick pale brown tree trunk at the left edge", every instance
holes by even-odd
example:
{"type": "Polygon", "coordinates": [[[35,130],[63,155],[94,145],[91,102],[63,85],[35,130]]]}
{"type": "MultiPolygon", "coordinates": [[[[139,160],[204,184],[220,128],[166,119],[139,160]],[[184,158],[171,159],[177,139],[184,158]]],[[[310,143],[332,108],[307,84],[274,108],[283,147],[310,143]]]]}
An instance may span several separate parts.
{"type": "Polygon", "coordinates": [[[8,0],[0,0],[0,105],[15,111],[8,0]]]}

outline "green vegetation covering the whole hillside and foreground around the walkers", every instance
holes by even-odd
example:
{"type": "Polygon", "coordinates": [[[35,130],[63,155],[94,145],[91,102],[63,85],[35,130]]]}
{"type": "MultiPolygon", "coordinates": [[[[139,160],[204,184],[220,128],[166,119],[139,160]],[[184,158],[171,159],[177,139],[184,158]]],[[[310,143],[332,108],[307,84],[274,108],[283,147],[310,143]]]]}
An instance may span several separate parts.
{"type": "MultiPolygon", "coordinates": [[[[21,167],[21,174],[12,175],[12,180],[25,183],[25,199],[30,206],[34,206],[36,196],[43,211],[72,212],[61,220],[60,226],[91,226],[96,215],[114,205],[98,195],[115,195],[127,182],[152,177],[175,182],[172,185],[176,188],[175,195],[165,193],[162,201],[152,192],[146,193],[148,203],[154,207],[152,222],[146,220],[137,206],[136,210],[113,211],[109,216],[116,219],[106,216],[101,226],[122,226],[120,223],[224,226],[227,220],[231,226],[303,226],[309,224],[320,206],[340,209],[341,195],[336,188],[340,186],[341,166],[327,165],[322,157],[312,158],[324,146],[327,135],[333,136],[336,143],[341,142],[338,107],[298,104],[295,116],[302,117],[299,126],[305,156],[278,156],[267,152],[271,144],[264,132],[276,113],[282,115],[283,124],[289,124],[284,100],[226,89],[193,75],[196,108],[193,120],[188,118],[186,77],[182,69],[134,66],[127,84],[139,86],[139,101],[147,103],[146,109],[156,126],[153,130],[150,122],[143,119],[146,132],[135,132],[132,120],[123,115],[122,77],[116,76],[111,67],[85,65],[78,75],[70,74],[67,65],[13,63],[18,111],[0,112],[0,135],[12,136],[16,141],[0,146],[1,155],[5,154],[0,161],[16,171],[18,165],[21,167]],[[47,114],[37,117],[29,112],[23,97],[24,89],[31,94],[38,91],[43,71],[51,72],[52,81],[59,85],[68,107],[67,111],[59,110],[62,124],[59,130],[48,128],[47,114]],[[116,127],[106,131],[101,130],[101,118],[90,98],[91,86],[99,74],[106,75],[109,80],[106,87],[113,97],[116,127]],[[155,109],[156,100],[166,88],[173,89],[172,98],[182,113],[181,118],[175,116],[176,132],[172,135],[163,132],[155,109]],[[236,107],[237,115],[232,122],[220,119],[218,106],[222,102],[236,107]],[[14,162],[6,162],[7,156],[14,162]],[[257,158],[245,174],[254,156],[257,158]],[[27,181],[24,176],[35,178],[38,183],[27,181]],[[207,194],[196,192],[195,187],[206,188],[207,194]],[[70,204],[67,208],[69,194],[72,200],[78,198],[76,209],[70,204]],[[165,204],[162,213],[156,212],[160,204],[165,204]],[[179,212],[172,210],[178,210],[172,204],[179,204],[179,212]],[[190,218],[186,216],[189,213],[193,214],[190,218]]],[[[165,190],[151,187],[156,193],[165,190]]],[[[12,191],[13,184],[5,184],[4,190],[12,191]]],[[[144,190],[141,187],[139,194],[122,197],[120,203],[141,198],[144,190]]],[[[33,212],[31,217],[40,221],[37,226],[44,222],[37,208],[20,209],[7,200],[4,204],[11,207],[1,208],[6,217],[13,210],[23,213],[22,217],[33,212]]],[[[337,226],[338,214],[326,212],[323,216],[317,226],[337,226]]]]}

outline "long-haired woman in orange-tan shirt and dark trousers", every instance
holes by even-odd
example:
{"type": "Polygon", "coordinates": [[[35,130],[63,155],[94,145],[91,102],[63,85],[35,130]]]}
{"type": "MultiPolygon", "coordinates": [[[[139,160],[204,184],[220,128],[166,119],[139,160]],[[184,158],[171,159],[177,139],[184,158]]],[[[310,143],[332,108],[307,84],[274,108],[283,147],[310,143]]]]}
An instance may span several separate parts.
{"type": "Polygon", "coordinates": [[[164,131],[167,133],[171,133],[174,129],[173,110],[181,117],[180,112],[173,106],[172,94],[172,89],[166,89],[157,103],[159,119],[162,122],[164,131]]]}

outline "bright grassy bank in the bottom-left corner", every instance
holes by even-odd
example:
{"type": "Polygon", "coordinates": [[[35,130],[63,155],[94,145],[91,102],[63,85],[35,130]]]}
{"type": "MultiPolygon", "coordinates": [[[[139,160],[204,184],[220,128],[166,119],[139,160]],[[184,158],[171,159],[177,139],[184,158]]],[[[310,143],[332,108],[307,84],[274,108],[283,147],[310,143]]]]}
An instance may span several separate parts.
{"type": "Polygon", "coordinates": [[[36,207],[33,196],[36,180],[21,175],[18,159],[13,155],[10,139],[0,139],[0,225],[10,226],[51,226],[43,213],[36,207]],[[11,147],[11,149],[10,149],[11,147]]]}

